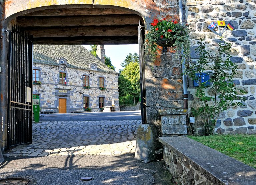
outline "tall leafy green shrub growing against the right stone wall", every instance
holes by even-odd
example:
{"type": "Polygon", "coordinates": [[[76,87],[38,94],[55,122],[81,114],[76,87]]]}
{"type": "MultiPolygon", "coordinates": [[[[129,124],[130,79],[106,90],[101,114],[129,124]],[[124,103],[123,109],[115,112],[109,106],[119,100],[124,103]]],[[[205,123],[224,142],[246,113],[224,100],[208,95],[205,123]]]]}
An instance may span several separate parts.
{"type": "Polygon", "coordinates": [[[220,113],[230,107],[241,106],[245,92],[233,83],[237,74],[237,65],[230,61],[231,44],[221,40],[217,50],[206,50],[205,43],[199,42],[196,54],[199,55],[196,63],[187,65],[185,74],[198,83],[195,95],[201,102],[201,106],[192,107],[191,113],[201,116],[204,120],[205,135],[212,135],[215,132],[215,125],[220,113]],[[201,74],[210,72],[210,87],[207,81],[201,79],[201,74]],[[209,95],[207,95],[208,90],[209,95]]]}

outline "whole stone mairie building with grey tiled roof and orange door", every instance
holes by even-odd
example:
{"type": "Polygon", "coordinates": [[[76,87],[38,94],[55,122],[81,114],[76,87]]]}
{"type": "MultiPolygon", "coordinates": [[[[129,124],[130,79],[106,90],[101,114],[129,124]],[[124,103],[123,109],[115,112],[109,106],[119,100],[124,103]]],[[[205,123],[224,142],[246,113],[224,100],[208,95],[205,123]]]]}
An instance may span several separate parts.
{"type": "Polygon", "coordinates": [[[101,106],[111,106],[112,99],[119,111],[118,73],[82,45],[34,45],[33,81],[37,77],[41,85],[34,83],[33,94],[40,95],[41,113],[85,112],[84,107],[99,112],[101,106]]]}

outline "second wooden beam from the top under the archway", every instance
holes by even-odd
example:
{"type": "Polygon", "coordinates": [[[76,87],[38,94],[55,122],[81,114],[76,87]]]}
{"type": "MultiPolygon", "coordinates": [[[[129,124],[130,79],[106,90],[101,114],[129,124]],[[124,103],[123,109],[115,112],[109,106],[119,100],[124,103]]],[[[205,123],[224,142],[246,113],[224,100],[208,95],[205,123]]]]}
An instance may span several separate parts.
{"type": "Polygon", "coordinates": [[[139,24],[140,16],[129,15],[94,15],[94,16],[22,16],[17,17],[17,24],[22,27],[49,26],[104,26],[139,24]]]}

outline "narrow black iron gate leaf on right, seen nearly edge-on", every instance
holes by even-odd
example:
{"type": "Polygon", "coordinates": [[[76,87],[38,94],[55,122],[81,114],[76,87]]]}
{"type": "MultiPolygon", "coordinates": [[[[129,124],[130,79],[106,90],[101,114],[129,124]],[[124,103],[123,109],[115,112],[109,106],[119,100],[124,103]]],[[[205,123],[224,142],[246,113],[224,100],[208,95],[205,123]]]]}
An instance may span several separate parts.
{"type": "Polygon", "coordinates": [[[144,26],[138,26],[139,59],[140,59],[140,97],[141,97],[141,122],[147,124],[146,118],[146,82],[145,82],[145,53],[144,53],[144,26]]]}

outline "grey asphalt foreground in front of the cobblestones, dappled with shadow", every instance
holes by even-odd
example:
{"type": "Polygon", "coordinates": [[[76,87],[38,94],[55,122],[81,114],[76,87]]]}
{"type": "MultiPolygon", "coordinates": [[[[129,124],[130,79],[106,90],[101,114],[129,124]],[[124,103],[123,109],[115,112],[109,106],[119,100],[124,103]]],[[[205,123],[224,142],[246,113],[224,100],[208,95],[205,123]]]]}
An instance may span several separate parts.
{"type": "Polygon", "coordinates": [[[162,160],[144,163],[134,154],[9,157],[0,164],[0,178],[7,177],[37,185],[172,185],[162,160]],[[85,176],[93,180],[81,181],[85,176]]]}

